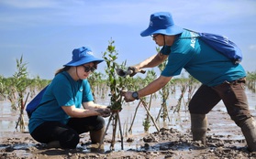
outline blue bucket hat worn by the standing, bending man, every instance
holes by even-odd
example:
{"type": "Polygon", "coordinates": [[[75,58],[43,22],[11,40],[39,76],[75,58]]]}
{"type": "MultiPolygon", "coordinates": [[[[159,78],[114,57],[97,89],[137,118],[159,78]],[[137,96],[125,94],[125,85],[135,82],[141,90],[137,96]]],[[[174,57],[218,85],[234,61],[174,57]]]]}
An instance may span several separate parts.
{"type": "Polygon", "coordinates": [[[173,36],[181,34],[183,31],[183,27],[174,25],[171,13],[157,12],[150,15],[150,25],[146,30],[140,33],[140,36],[147,37],[153,34],[173,36]]]}

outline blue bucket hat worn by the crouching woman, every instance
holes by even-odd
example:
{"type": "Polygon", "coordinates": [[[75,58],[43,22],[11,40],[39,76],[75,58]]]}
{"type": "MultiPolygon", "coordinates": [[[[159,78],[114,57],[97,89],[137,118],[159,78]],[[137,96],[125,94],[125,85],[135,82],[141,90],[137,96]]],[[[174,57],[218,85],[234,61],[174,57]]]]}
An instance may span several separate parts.
{"type": "Polygon", "coordinates": [[[91,48],[82,47],[75,48],[72,50],[72,61],[65,64],[64,66],[80,66],[84,63],[97,62],[101,63],[103,59],[95,58],[91,48]]]}

